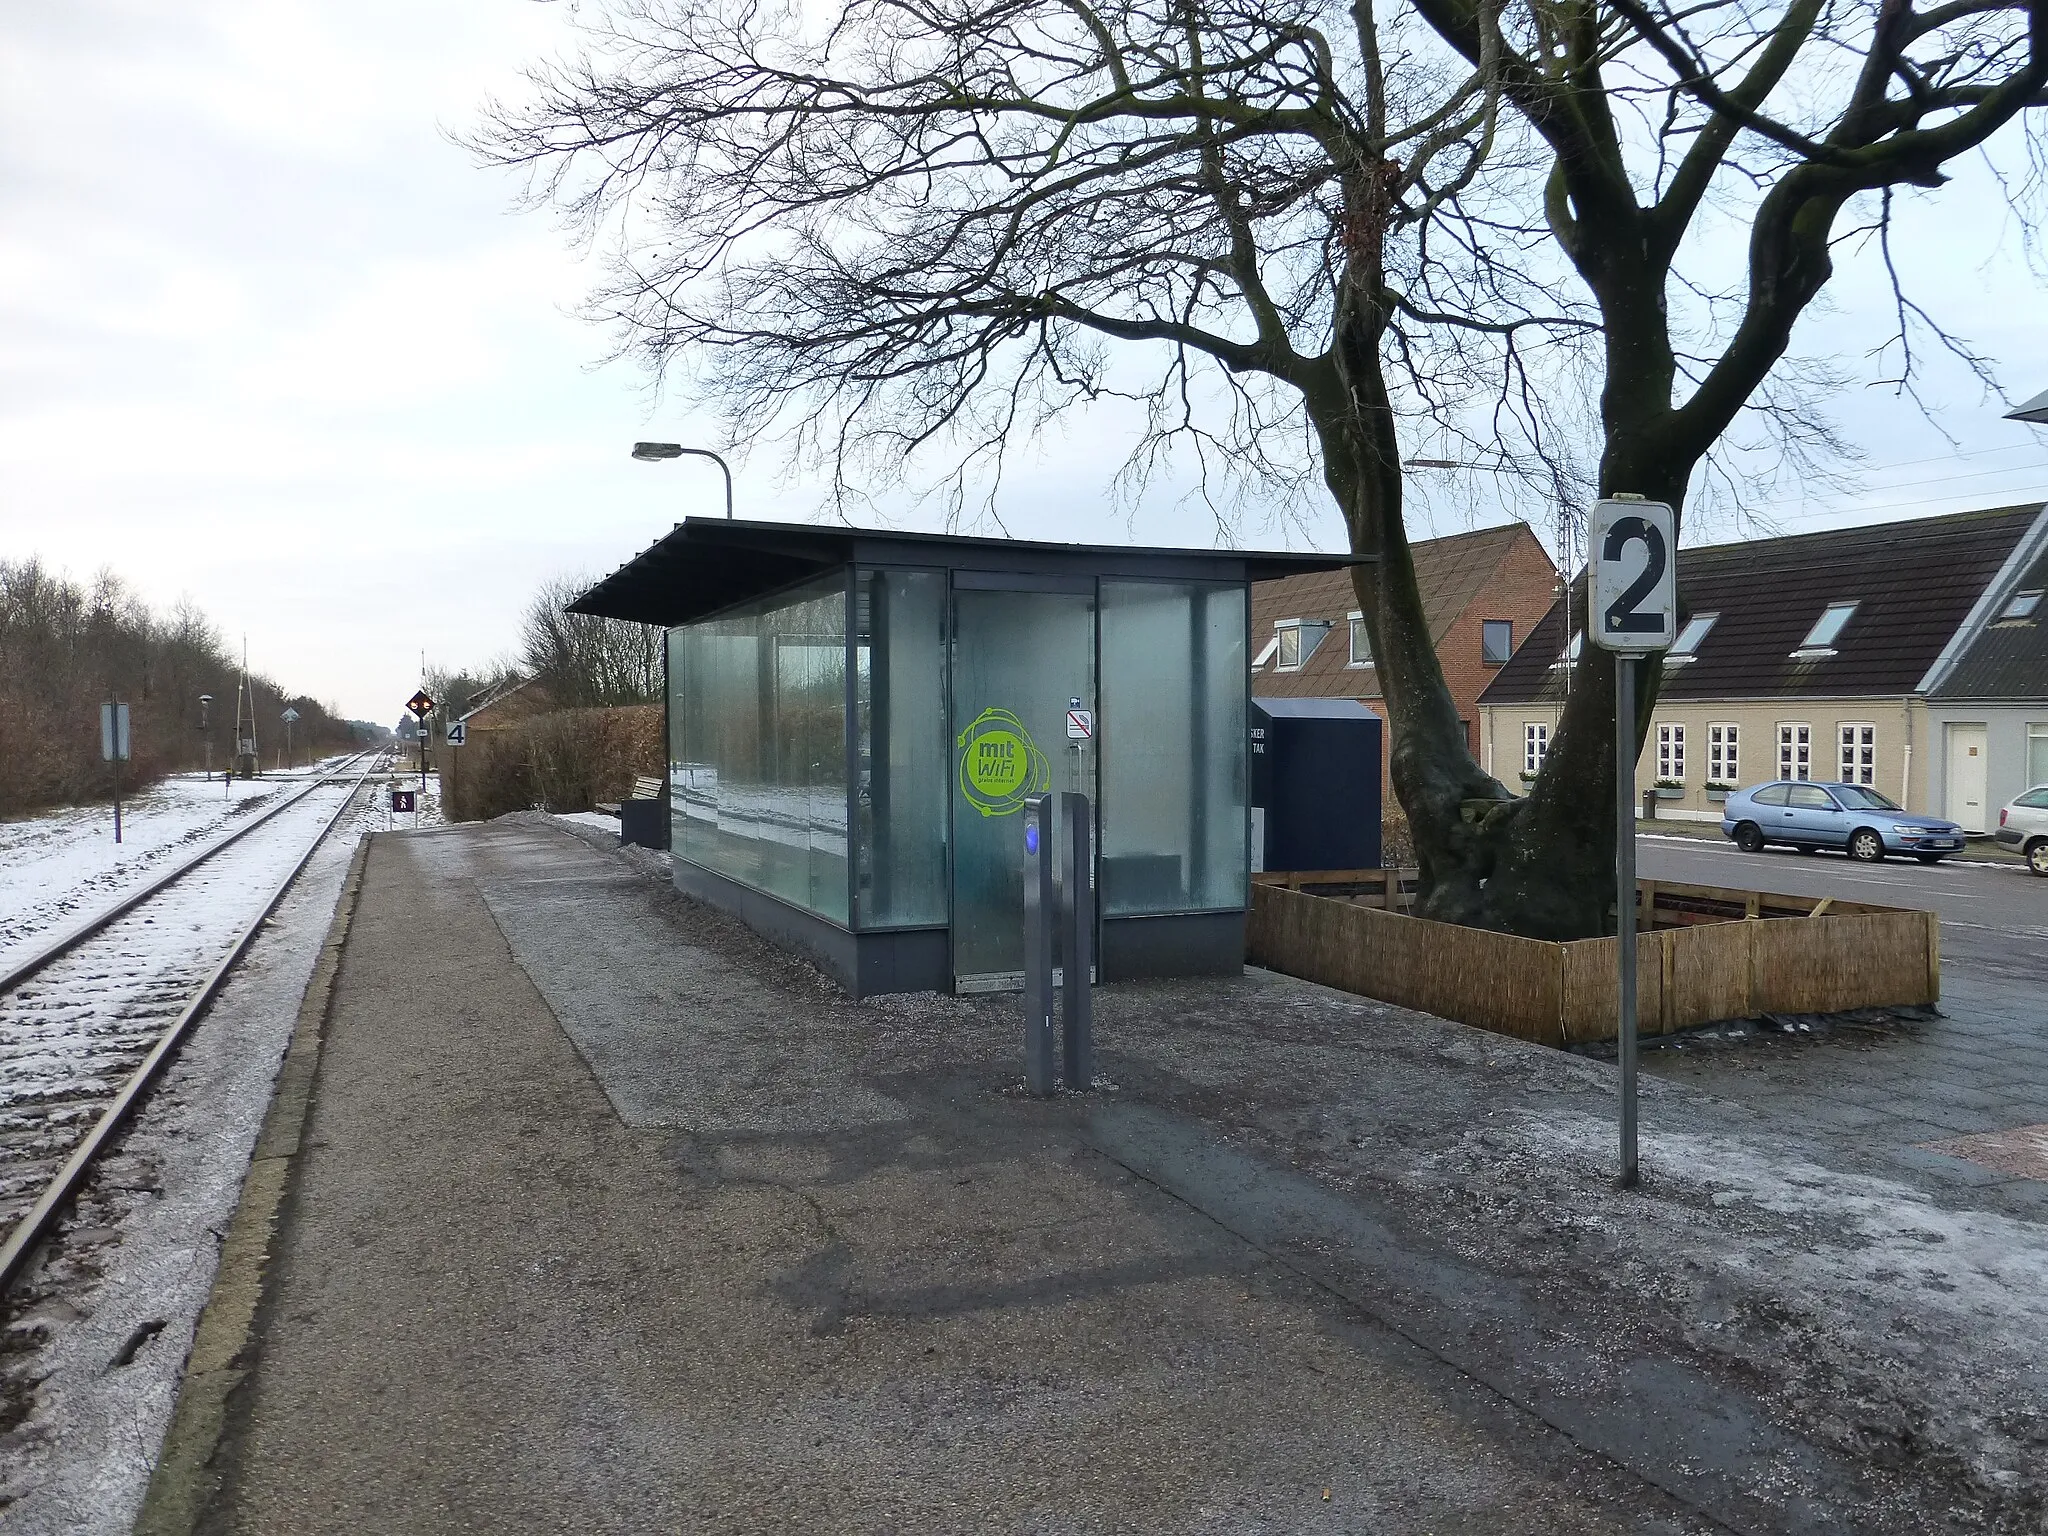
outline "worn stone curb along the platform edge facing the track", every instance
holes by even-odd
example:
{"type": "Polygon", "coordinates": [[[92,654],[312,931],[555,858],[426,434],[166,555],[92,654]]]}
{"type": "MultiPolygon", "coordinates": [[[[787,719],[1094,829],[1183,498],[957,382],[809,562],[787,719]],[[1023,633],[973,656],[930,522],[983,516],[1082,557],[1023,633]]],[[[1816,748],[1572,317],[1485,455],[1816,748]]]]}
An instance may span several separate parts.
{"type": "Polygon", "coordinates": [[[348,860],[342,893],[334,903],[328,936],[322,940],[313,975],[299,999],[299,1022],[276,1069],[270,1108],[250,1151],[250,1169],[242,1180],[242,1198],[227,1223],[221,1262],[213,1274],[213,1292],[193,1331],[193,1350],[184,1358],[184,1378],[178,1384],[178,1405],[172,1409],[164,1446],[150,1475],[141,1513],[135,1516],[135,1536],[190,1536],[201,1528],[213,1495],[219,1491],[221,1468],[217,1452],[227,1434],[227,1411],[236,1391],[254,1364],[256,1313],[262,1305],[270,1245],[276,1237],[279,1210],[291,1186],[299,1155],[305,1116],[313,1102],[313,1077],[319,1071],[319,1047],[326,1038],[328,1014],[334,1001],[334,977],[342,965],[342,946],[356,915],[362,891],[362,866],[371,838],[365,834],[348,860]]]}

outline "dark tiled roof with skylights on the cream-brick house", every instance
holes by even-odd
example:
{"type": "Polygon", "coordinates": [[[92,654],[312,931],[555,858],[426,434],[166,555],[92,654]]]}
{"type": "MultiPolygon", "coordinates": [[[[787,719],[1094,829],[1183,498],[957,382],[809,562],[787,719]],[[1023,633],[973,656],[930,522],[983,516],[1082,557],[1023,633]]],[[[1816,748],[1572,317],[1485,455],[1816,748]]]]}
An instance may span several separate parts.
{"type": "MultiPolygon", "coordinates": [[[[1679,549],[1679,610],[1718,612],[1698,659],[1667,666],[1665,698],[1845,698],[1909,694],[1985,586],[2042,514],[2038,502],[1866,528],[1679,549]],[[1831,602],[1855,602],[1829,655],[1794,657],[1831,602]]],[[[1585,582],[1573,588],[1583,625],[1585,582]]],[[[1559,604],[1479,696],[1520,705],[1563,694],[1559,604]]]]}

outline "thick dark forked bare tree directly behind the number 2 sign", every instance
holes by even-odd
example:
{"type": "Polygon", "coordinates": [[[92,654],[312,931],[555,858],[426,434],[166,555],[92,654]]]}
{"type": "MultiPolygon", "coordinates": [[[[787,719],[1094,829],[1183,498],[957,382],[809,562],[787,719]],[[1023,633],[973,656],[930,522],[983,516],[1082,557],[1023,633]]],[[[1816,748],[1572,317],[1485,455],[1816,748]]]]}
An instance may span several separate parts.
{"type": "MultiPolygon", "coordinates": [[[[1874,242],[1892,276],[1901,383],[1915,334],[1989,383],[1898,287],[1894,193],[1939,186],[1958,156],[2048,104],[2048,0],[1544,0],[1505,23],[1489,0],[1415,4],[1552,150],[1550,233],[1602,319],[1602,494],[1683,508],[1745,412],[1794,440],[1817,430],[1776,385],[1843,242],[1874,242]],[[1694,240],[1714,219],[1749,225],[1733,283],[1694,240]]],[[[2038,168],[2038,137],[2028,147],[2038,168]]],[[[1616,672],[1604,657],[1577,672],[1530,799],[1481,819],[1495,858],[1479,922],[1556,936],[1606,926],[1616,672]]],[[[1638,752],[1657,682],[1638,692],[1638,752]]]]}

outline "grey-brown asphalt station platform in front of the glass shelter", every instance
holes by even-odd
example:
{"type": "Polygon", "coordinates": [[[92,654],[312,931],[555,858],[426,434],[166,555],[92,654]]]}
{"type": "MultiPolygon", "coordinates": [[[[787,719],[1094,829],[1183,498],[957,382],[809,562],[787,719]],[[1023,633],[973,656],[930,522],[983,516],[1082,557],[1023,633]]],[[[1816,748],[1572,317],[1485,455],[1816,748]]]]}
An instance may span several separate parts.
{"type": "Polygon", "coordinates": [[[850,1001],[543,817],[375,838],[240,1386],[143,1528],[1921,1528],[1499,1245],[1561,1217],[1468,1130],[1599,1063],[1247,973],[1102,989],[1114,1085],[1036,1102],[1014,1008],[850,1001]]]}

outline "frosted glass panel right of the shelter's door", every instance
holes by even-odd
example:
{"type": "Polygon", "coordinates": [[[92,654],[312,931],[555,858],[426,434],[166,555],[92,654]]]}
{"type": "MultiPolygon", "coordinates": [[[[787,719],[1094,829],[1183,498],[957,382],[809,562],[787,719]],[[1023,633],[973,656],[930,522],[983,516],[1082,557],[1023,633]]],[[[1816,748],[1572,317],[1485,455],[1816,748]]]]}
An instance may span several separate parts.
{"type": "Polygon", "coordinates": [[[1245,590],[1102,584],[1102,913],[1245,905],[1245,590]]]}

